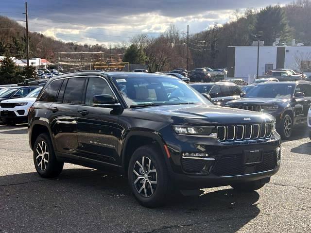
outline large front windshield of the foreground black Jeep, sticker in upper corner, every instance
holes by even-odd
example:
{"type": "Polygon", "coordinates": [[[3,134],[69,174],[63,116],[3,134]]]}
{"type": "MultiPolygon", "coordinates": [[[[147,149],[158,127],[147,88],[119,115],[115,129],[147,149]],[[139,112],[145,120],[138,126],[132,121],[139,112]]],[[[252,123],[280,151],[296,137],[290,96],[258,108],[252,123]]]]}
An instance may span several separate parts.
{"type": "Polygon", "coordinates": [[[130,107],[142,105],[211,104],[178,78],[115,76],[113,82],[130,107]]]}

